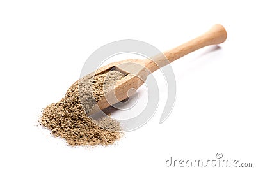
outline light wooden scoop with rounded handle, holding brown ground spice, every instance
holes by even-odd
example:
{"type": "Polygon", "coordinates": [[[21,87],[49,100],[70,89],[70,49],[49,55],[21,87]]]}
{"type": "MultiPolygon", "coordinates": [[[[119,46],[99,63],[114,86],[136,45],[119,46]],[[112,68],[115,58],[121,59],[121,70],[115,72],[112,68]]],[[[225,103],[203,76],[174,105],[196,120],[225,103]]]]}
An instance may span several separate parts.
{"type": "Polygon", "coordinates": [[[172,50],[164,52],[164,55],[159,54],[150,59],[143,60],[127,59],[101,67],[95,74],[114,69],[124,73],[125,76],[116,82],[114,88],[109,88],[104,91],[104,97],[102,97],[87,115],[90,116],[93,113],[118,103],[119,101],[127,99],[127,92],[129,89],[138,89],[138,87],[143,85],[148,74],[153,73],[160,67],[166,66],[166,64],[170,64],[170,62],[204,46],[223,43],[226,39],[227,32],[225,31],[225,28],[220,24],[216,24],[209,31],[205,32],[205,34],[177,46],[172,50]]]}

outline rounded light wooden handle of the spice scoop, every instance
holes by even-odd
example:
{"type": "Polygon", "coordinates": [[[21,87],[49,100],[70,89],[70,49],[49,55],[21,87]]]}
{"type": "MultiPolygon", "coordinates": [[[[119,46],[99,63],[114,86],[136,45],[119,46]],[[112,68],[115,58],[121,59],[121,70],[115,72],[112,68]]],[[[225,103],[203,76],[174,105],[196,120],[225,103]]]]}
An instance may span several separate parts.
{"type": "Polygon", "coordinates": [[[163,55],[156,55],[151,57],[151,60],[145,59],[145,65],[149,71],[154,72],[160,67],[163,67],[188,53],[194,52],[195,50],[205,46],[223,43],[226,39],[227,32],[225,28],[220,24],[215,24],[209,31],[205,32],[201,36],[177,46],[172,50],[164,52],[165,57],[163,55]],[[168,60],[166,60],[166,58],[168,60]]]}

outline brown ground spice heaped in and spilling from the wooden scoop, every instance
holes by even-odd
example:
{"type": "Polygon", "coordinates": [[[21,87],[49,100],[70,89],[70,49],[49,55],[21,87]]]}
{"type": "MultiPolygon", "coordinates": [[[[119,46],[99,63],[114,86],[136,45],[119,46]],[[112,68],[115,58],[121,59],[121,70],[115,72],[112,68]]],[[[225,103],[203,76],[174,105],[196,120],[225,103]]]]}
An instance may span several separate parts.
{"type": "Polygon", "coordinates": [[[119,122],[109,117],[92,120],[86,113],[104,96],[104,90],[113,87],[123,77],[119,71],[84,76],[67,90],[63,99],[43,110],[40,124],[71,146],[109,145],[118,141],[121,135],[119,122]]]}

